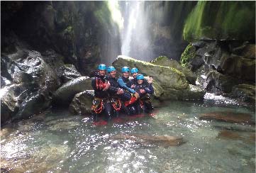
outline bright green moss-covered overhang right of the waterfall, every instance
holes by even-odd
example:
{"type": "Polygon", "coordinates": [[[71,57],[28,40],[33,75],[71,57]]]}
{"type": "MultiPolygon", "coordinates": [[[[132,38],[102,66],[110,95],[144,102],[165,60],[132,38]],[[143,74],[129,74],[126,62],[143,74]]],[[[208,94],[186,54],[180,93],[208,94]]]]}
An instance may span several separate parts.
{"type": "Polygon", "coordinates": [[[255,40],[255,1],[199,1],[183,29],[185,40],[255,40]]]}

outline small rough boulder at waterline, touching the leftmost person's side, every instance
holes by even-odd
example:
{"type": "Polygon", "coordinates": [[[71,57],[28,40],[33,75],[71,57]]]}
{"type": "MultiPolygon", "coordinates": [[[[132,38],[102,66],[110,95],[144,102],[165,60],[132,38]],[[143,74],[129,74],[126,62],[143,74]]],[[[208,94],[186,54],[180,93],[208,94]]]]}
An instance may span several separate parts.
{"type": "Polygon", "coordinates": [[[89,114],[94,100],[94,90],[86,90],[76,94],[69,105],[69,112],[72,114],[89,114]]]}

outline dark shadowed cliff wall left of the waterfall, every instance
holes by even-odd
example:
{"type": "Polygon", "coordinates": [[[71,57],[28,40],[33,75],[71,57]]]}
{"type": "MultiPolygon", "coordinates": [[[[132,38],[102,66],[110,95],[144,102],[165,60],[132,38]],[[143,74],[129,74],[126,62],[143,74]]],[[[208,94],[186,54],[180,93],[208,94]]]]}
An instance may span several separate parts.
{"type": "Polygon", "coordinates": [[[120,35],[105,1],[20,4],[19,7],[18,3],[3,2],[6,31],[3,50],[15,50],[11,46],[16,42],[11,35],[14,33],[35,50],[55,50],[65,57],[65,63],[75,65],[80,73],[87,75],[100,61],[109,63],[108,60],[120,55],[120,35]]]}

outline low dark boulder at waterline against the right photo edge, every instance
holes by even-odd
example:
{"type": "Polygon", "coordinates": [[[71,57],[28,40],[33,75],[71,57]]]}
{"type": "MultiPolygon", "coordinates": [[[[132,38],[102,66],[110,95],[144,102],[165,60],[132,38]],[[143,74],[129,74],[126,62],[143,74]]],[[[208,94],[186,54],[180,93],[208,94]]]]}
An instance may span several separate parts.
{"type": "Polygon", "coordinates": [[[231,97],[238,98],[241,101],[255,104],[255,84],[238,84],[233,86],[231,97]]]}

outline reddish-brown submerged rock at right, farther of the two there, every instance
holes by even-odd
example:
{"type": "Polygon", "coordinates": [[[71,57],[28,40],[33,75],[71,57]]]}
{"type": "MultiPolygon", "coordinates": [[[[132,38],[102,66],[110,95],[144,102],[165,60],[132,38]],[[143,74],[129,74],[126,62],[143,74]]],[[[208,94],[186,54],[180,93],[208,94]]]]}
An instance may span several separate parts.
{"type": "Polygon", "coordinates": [[[252,115],[250,115],[249,113],[237,113],[229,111],[204,113],[199,116],[199,119],[225,121],[228,123],[255,124],[255,122],[252,121],[252,115]]]}

